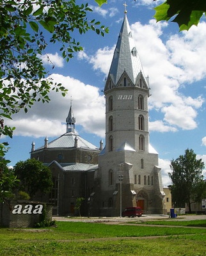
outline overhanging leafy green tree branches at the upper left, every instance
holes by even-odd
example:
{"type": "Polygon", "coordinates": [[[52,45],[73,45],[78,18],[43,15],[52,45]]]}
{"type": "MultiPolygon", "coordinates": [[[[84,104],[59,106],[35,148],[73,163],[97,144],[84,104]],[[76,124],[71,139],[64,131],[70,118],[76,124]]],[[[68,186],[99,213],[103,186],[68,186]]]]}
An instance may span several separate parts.
{"type": "Polygon", "coordinates": [[[104,36],[108,29],[89,20],[90,12],[88,3],[75,0],[0,0],[0,134],[12,136],[4,118],[20,109],[27,112],[35,101],[49,102],[51,90],[67,93],[49,77],[40,56],[48,44],[55,44],[69,61],[83,50],[77,33],[91,30],[104,36]]]}

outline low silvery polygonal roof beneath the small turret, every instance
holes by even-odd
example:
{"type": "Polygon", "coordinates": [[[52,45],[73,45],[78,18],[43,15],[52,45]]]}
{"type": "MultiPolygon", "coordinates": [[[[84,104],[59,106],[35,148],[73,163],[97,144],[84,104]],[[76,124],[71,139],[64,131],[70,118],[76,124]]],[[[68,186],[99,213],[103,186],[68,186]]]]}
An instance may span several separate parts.
{"type": "MultiPolygon", "coordinates": [[[[66,132],[56,140],[49,142],[47,148],[74,148],[75,140],[77,140],[77,148],[99,150],[95,145],[81,138],[76,132],[66,132]]],[[[37,148],[36,150],[40,149],[44,149],[44,146],[37,148]]]]}

